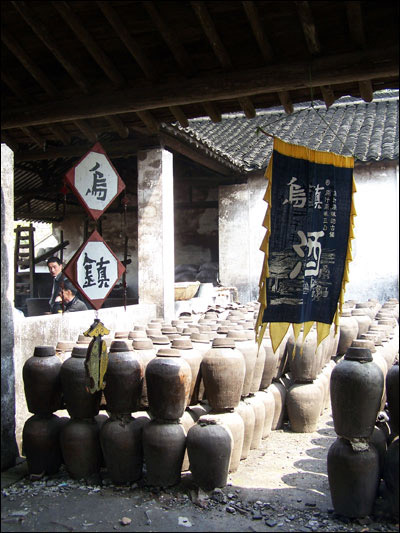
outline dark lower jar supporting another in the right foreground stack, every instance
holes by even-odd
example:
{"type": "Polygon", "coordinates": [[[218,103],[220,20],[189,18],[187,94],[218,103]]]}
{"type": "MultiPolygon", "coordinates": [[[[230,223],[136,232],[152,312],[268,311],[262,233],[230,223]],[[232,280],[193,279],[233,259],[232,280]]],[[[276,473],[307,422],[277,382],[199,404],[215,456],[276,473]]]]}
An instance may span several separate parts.
{"type": "Polygon", "coordinates": [[[349,518],[370,515],[379,486],[375,447],[355,452],[347,439],[336,439],[328,451],[328,481],[337,514],[349,518]]]}

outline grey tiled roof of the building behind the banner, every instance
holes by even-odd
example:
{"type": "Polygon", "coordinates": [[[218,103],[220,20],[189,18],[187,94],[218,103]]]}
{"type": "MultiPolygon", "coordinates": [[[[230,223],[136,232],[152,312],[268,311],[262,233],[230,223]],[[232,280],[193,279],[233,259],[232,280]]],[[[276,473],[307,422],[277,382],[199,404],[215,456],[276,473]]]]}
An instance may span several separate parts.
{"type": "Polygon", "coordinates": [[[273,140],[257,128],[284,141],[321,151],[353,155],[356,161],[399,157],[399,91],[380,91],[372,102],[345,96],[329,109],[324,102],[295,104],[287,115],[282,107],[258,110],[253,119],[226,114],[221,122],[209,118],[164,127],[177,137],[212,153],[242,171],[264,169],[273,140]]]}

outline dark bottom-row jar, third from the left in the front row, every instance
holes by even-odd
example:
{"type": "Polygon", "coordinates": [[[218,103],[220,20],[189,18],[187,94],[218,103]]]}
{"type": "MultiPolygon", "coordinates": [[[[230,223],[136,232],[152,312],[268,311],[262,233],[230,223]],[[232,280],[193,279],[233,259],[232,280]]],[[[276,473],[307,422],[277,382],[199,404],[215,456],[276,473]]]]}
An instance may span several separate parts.
{"type": "Polygon", "coordinates": [[[130,415],[111,415],[100,430],[108,474],[115,484],[133,483],[142,476],[142,425],[130,415]]]}

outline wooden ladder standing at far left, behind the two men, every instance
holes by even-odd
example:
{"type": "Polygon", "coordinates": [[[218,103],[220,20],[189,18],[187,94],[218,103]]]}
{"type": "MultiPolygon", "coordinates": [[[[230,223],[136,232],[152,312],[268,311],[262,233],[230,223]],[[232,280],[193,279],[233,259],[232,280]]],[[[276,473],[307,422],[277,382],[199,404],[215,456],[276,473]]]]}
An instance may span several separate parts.
{"type": "Polygon", "coordinates": [[[15,307],[26,313],[26,299],[34,297],[35,247],[33,232],[35,228],[18,225],[15,229],[15,307]],[[22,270],[21,269],[28,269],[22,270]]]}

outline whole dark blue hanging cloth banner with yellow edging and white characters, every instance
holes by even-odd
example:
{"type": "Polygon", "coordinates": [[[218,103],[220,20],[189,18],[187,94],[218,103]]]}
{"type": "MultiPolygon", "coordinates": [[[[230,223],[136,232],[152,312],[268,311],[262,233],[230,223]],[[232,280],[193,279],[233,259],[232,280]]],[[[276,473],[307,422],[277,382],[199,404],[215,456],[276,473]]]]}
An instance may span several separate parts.
{"type": "Polygon", "coordinates": [[[296,336],[316,323],[318,344],[338,325],[351,261],[353,168],[353,157],[274,138],[256,324],[259,343],[269,324],[274,351],[290,324],[296,336]]]}

